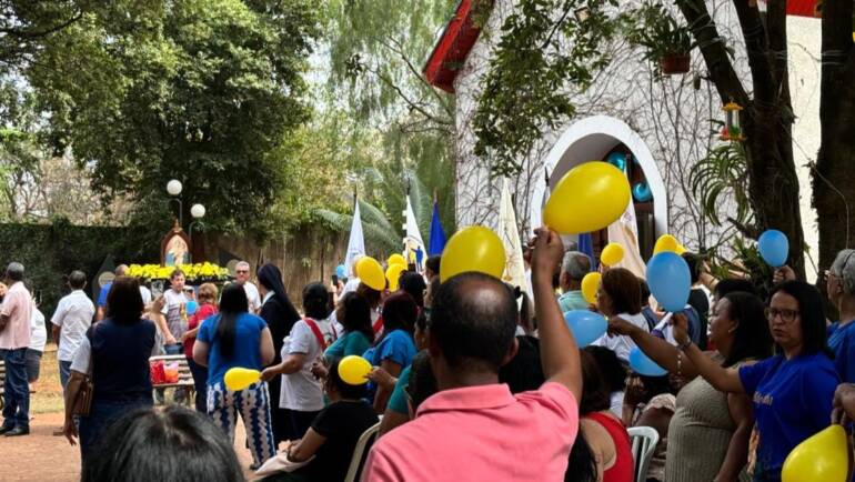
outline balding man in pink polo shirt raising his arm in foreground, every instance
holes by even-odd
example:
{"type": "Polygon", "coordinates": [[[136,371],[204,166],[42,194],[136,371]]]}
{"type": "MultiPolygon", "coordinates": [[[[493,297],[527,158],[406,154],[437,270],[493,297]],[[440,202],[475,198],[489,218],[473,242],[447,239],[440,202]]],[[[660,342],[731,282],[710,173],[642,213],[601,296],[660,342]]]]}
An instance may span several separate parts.
{"type": "Polygon", "coordinates": [[[499,368],[516,353],[517,311],[500,280],[463,273],[442,283],[429,325],[440,392],[372,448],[363,481],[563,481],[579,430],[580,355],[552,291],[564,248],[537,230],[532,281],[540,325],[540,390],[511,394],[499,368]]]}

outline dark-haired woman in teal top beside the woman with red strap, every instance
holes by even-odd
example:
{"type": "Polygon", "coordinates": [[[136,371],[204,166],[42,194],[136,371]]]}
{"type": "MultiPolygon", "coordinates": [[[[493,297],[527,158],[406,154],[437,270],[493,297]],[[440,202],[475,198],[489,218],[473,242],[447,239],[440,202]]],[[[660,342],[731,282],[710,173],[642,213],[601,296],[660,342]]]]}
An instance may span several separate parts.
{"type": "Polygon", "coordinates": [[[374,342],[368,300],[353,291],[345,294],[339,301],[335,317],[341,320],[344,333],[323,352],[328,363],[352,354],[362,357],[374,342]]]}

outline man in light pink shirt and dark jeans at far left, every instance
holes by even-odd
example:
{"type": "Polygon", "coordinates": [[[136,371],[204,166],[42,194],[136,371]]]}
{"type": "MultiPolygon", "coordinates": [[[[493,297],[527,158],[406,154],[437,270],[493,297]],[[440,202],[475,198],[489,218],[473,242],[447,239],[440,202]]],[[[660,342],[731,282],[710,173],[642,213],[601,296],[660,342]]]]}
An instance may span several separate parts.
{"type": "Polygon", "coordinates": [[[0,307],[0,355],[6,363],[3,424],[6,436],[30,433],[30,388],[27,383],[27,347],[30,345],[32,297],[23,285],[23,264],[6,269],[9,292],[0,307]]]}

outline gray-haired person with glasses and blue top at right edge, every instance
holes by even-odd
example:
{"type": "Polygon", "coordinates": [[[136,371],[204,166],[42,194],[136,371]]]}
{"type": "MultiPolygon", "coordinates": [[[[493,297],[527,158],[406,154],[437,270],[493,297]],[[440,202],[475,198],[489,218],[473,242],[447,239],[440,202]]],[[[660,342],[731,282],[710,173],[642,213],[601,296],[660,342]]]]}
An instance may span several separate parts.
{"type": "Polygon", "coordinates": [[[844,382],[855,382],[855,250],[837,253],[825,275],[826,291],[841,313],[841,321],[828,327],[828,348],[834,366],[844,382]]]}

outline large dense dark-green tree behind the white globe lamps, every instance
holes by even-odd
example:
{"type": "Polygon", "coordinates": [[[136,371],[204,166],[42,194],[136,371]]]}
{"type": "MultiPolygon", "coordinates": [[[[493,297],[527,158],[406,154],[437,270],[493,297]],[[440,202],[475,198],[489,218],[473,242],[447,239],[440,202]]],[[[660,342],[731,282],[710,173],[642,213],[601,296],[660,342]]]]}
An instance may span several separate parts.
{"type": "MultiPolygon", "coordinates": [[[[167,209],[168,180],[207,224],[264,231],[282,185],[281,140],[309,118],[309,0],[110,2],[39,40],[23,73],[56,149],[93,165],[93,188],[167,209]]],[[[185,212],[187,214],[187,212],[185,212]]],[[[185,215],[185,219],[189,218],[185,215]]]]}

